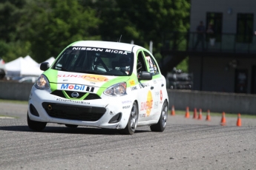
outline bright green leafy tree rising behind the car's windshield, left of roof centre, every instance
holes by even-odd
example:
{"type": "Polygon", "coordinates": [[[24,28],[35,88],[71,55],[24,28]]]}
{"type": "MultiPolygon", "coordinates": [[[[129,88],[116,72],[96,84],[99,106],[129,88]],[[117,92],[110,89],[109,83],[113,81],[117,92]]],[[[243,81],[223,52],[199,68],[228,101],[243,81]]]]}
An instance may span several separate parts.
{"type": "Polygon", "coordinates": [[[27,21],[26,39],[38,62],[59,55],[68,44],[85,39],[100,39],[93,35],[99,19],[90,7],[82,8],[78,1],[39,0],[29,1],[30,15],[27,21]],[[33,20],[30,19],[32,16],[33,20]]]}

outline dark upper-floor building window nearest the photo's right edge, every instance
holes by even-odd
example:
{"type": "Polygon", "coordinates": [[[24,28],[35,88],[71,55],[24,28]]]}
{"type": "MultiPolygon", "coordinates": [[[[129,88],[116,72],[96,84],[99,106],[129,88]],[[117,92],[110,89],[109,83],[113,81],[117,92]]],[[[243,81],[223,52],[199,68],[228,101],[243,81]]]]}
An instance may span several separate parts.
{"type": "Polygon", "coordinates": [[[253,13],[237,13],[237,42],[252,43],[253,13]]]}

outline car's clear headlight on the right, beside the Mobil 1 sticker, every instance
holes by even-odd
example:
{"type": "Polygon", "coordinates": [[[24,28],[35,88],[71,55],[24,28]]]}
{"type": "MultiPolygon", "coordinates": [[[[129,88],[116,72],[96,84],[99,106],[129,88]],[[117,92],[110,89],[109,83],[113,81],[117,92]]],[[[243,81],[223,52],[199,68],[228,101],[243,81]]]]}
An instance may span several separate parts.
{"type": "Polygon", "coordinates": [[[119,83],[119,84],[115,84],[113,86],[108,87],[108,89],[106,89],[104,91],[105,95],[110,95],[110,96],[120,96],[120,95],[127,95],[126,94],[126,83],[119,83]]]}

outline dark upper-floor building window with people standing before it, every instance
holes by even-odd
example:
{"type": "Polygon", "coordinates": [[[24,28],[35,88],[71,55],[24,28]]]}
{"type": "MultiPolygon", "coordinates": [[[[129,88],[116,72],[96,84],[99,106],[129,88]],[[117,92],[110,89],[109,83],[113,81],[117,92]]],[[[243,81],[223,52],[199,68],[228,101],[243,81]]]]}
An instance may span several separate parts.
{"type": "Polygon", "coordinates": [[[217,42],[221,41],[222,21],[223,13],[206,13],[206,30],[209,29],[211,24],[214,34],[209,36],[214,36],[217,42]]]}

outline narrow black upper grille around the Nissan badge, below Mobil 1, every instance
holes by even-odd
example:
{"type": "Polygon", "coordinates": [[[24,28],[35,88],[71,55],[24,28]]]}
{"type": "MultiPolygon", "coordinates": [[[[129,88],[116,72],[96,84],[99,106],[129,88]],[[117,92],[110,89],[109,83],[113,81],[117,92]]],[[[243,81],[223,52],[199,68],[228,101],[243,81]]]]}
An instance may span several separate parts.
{"type": "MultiPolygon", "coordinates": [[[[55,91],[51,92],[50,94],[59,96],[61,98],[66,98],[63,92],[65,92],[68,95],[68,97],[72,98],[71,93],[73,91],[55,90],[55,91]]],[[[86,94],[87,94],[87,92],[79,92],[79,98],[82,98],[82,96],[84,96],[86,94]]],[[[89,93],[89,95],[84,100],[86,101],[86,100],[95,100],[95,99],[100,99],[99,95],[89,93]]]]}

